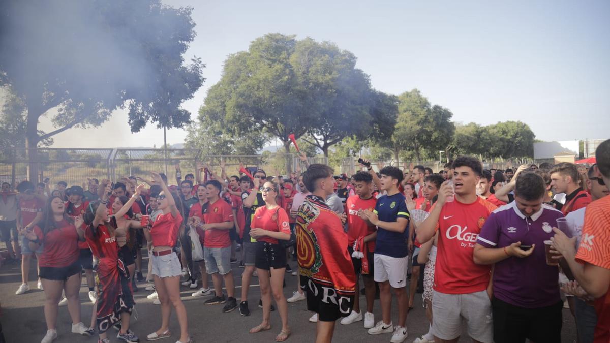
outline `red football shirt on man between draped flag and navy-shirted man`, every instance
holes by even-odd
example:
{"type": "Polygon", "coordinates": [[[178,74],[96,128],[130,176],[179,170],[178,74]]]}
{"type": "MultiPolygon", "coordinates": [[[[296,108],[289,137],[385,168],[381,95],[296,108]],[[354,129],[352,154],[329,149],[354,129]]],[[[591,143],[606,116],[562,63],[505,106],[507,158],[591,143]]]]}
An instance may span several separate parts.
{"type": "MultiPolygon", "coordinates": [[[[368,210],[372,212],[375,209],[376,203],[377,199],[375,197],[364,200],[359,195],[352,195],[345,201],[345,207],[347,208],[348,247],[352,247],[358,237],[368,236],[377,230],[375,225],[368,225],[367,222],[358,217],[358,211],[368,210]]],[[[367,243],[367,251],[375,251],[375,240],[367,243]]]]}

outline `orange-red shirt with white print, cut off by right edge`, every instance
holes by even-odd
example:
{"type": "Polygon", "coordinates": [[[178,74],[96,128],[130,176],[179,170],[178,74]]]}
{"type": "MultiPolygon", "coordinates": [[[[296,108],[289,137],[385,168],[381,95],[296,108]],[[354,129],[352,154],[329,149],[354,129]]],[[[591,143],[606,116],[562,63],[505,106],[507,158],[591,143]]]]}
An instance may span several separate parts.
{"type": "MultiPolygon", "coordinates": [[[[583,236],[576,261],[610,269],[610,197],[592,202],[584,212],[583,236]]],[[[595,299],[594,342],[610,342],[610,290],[595,299]]]]}

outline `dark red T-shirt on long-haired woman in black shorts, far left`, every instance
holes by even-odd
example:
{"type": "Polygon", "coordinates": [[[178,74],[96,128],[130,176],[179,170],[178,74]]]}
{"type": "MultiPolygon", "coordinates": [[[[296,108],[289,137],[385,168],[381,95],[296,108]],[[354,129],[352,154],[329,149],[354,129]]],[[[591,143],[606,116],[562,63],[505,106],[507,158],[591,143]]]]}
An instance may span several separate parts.
{"type": "Polygon", "coordinates": [[[78,233],[74,224],[64,219],[57,222],[57,229],[49,230],[46,235],[39,226],[34,226],[34,233],[44,244],[38,260],[40,267],[68,267],[79,258],[78,233]]]}

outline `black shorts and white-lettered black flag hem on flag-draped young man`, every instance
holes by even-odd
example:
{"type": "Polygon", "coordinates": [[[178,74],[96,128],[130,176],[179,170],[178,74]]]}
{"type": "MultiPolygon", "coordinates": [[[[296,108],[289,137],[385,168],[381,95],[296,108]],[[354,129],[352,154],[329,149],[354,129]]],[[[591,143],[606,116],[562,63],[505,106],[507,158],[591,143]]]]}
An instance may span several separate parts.
{"type": "Polygon", "coordinates": [[[325,289],[307,276],[300,275],[301,289],[307,298],[307,311],[316,312],[321,322],[334,322],[346,317],[354,307],[354,294],[340,295],[335,289],[325,289]],[[329,299],[328,297],[332,297],[329,299]]]}

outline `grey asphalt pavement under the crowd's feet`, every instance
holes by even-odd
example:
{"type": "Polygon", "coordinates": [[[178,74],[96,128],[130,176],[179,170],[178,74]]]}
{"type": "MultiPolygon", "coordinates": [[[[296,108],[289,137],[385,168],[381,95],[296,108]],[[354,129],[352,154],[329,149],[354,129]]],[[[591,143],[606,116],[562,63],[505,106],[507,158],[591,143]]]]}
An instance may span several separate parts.
{"type": "MultiPolygon", "coordinates": [[[[145,253],[145,250],[143,250],[145,253]]],[[[239,254],[238,254],[239,255],[239,254]]],[[[35,262],[35,261],[33,261],[35,262]]],[[[144,259],[143,264],[146,265],[148,259],[144,259]]],[[[296,267],[296,262],[291,261],[293,268],[296,267]]],[[[34,265],[34,264],[32,264],[34,265]]],[[[232,265],[233,275],[235,278],[235,294],[238,302],[241,294],[241,281],[243,269],[237,267],[237,264],[232,265]]],[[[145,269],[145,268],[144,268],[145,269]]],[[[15,295],[15,291],[21,284],[21,269],[19,264],[5,264],[0,268],[0,303],[2,305],[2,315],[0,323],[4,332],[7,343],[27,342],[38,343],[45,336],[46,324],[43,314],[43,303],[45,295],[43,291],[36,288],[35,267],[30,269],[30,288],[32,291],[22,295],[15,295]]],[[[87,296],[87,287],[85,278],[83,278],[83,286],[81,288],[81,318],[82,322],[88,326],[91,319],[92,305],[87,296]]],[[[296,290],[296,276],[286,273],[286,287],[284,294],[288,298],[292,292],[296,290]]],[[[210,278],[210,285],[212,284],[210,278]]],[[[249,309],[251,315],[248,317],[240,316],[236,309],[233,312],[223,313],[223,305],[203,305],[204,301],[209,297],[193,298],[190,294],[196,290],[188,287],[181,287],[182,301],[187,308],[188,327],[193,341],[201,342],[274,342],[275,336],[281,330],[281,320],[278,312],[271,313],[271,330],[257,334],[250,334],[248,330],[255,327],[262,320],[262,309],[258,308],[260,298],[260,289],[258,287],[257,278],[253,278],[249,289],[249,309]]],[[[362,284],[362,283],[361,283],[362,284]]],[[[146,295],[150,294],[144,290],[146,283],[138,283],[140,291],[135,292],[136,309],[138,319],[132,320],[131,328],[140,337],[141,342],[146,341],[146,335],[157,330],[160,325],[160,307],[154,305],[152,300],[148,300],[146,295]]],[[[397,320],[397,306],[395,298],[392,303],[392,319],[397,320]]],[[[361,306],[364,308],[365,299],[361,295],[361,306]]],[[[305,301],[288,304],[289,323],[292,334],[287,342],[313,342],[315,339],[315,323],[308,321],[311,312],[306,309],[305,301]]],[[[373,310],[375,319],[381,319],[381,308],[379,301],[375,301],[373,310]]],[[[564,309],[563,312],[564,325],[562,329],[562,342],[576,341],[576,327],[572,314],[569,309],[564,309]]],[[[364,322],[356,322],[351,325],[340,325],[337,321],[336,330],[333,342],[389,342],[391,334],[381,334],[378,336],[370,336],[367,330],[363,327],[364,322]]],[[[413,342],[418,336],[428,332],[428,320],[425,316],[425,310],[422,307],[422,295],[415,296],[414,309],[407,316],[407,331],[409,337],[405,342],[413,342]]],[[[68,314],[67,307],[59,308],[59,317],[57,320],[58,338],[55,342],[97,342],[97,335],[91,338],[78,336],[70,333],[71,320],[68,314]]],[[[159,342],[174,343],[179,339],[179,326],[176,316],[173,314],[170,320],[170,331],[173,334],[171,338],[162,339],[159,342]]],[[[111,342],[122,342],[116,338],[116,331],[109,330],[111,342]]],[[[472,342],[467,338],[467,335],[462,335],[460,342],[472,342]]]]}

